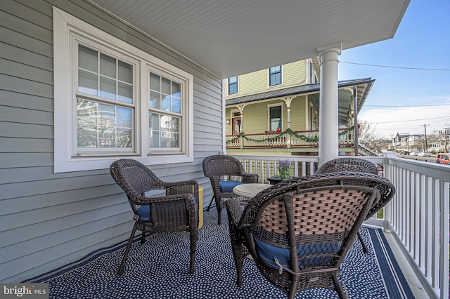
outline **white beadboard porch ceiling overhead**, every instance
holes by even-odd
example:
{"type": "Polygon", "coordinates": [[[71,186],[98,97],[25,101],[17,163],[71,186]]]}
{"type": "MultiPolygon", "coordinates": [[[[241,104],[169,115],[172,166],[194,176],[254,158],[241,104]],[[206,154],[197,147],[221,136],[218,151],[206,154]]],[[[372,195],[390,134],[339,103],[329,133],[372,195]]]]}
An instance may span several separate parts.
{"type": "Polygon", "coordinates": [[[390,39],[409,0],[87,0],[221,78],[390,39]]]}

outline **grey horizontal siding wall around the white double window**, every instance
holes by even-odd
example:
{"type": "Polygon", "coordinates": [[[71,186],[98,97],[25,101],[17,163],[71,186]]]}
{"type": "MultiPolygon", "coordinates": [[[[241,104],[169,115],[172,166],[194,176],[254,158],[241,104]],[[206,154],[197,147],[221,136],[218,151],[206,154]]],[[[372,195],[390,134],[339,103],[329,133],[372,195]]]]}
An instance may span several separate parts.
{"type": "Polygon", "coordinates": [[[133,225],[108,169],[53,173],[52,5],[193,75],[194,161],[152,166],[162,180],[198,180],[209,200],[201,164],[223,149],[218,77],[88,2],[0,1],[2,282],[30,279],[128,239],[133,225]]]}

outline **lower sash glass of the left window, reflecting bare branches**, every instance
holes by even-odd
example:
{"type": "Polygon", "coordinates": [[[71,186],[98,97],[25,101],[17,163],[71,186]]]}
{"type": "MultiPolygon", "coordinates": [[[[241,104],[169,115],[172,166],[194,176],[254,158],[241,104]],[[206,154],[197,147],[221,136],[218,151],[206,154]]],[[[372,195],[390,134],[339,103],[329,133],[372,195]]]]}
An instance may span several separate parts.
{"type": "Polygon", "coordinates": [[[131,147],[131,109],[77,100],[78,147],[131,147]]]}

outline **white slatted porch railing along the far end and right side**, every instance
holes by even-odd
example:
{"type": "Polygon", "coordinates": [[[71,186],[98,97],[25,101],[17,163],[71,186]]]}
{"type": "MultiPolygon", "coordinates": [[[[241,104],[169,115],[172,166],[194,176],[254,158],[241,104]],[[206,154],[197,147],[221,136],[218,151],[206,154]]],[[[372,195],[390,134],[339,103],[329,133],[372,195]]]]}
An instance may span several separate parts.
{"type": "MultiPolygon", "coordinates": [[[[258,173],[259,182],[277,175],[278,159],[293,161],[293,176],[314,173],[319,162],[316,156],[234,157],[246,171],[258,173]]],[[[397,188],[384,218],[374,215],[367,222],[392,233],[430,298],[449,298],[450,166],[401,159],[395,153],[359,158],[378,164],[397,188]]]]}

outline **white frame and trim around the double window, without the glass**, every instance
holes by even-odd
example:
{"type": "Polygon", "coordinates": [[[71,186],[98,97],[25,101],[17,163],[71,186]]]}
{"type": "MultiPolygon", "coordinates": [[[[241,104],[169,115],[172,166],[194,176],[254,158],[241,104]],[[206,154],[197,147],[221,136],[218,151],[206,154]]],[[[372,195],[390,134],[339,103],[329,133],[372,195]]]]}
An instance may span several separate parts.
{"type": "Polygon", "coordinates": [[[193,161],[193,75],[153,55],[126,43],[115,36],[103,32],[73,15],[53,7],[53,74],[54,74],[54,173],[70,171],[88,171],[109,168],[116,159],[130,157],[145,165],[178,164],[193,161]],[[134,150],[114,152],[108,149],[89,156],[74,153],[74,140],[77,134],[74,74],[77,74],[72,60],[74,38],[87,41],[105,54],[115,53],[116,57],[129,58],[133,62],[135,76],[134,98],[136,115],[134,126],[134,150]],[[180,149],[158,149],[151,151],[148,147],[148,93],[149,72],[158,72],[181,84],[180,149]],[[75,135],[74,135],[75,134],[75,135]],[[112,155],[111,152],[114,152],[112,155]]]}

